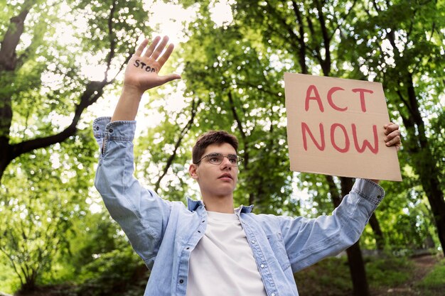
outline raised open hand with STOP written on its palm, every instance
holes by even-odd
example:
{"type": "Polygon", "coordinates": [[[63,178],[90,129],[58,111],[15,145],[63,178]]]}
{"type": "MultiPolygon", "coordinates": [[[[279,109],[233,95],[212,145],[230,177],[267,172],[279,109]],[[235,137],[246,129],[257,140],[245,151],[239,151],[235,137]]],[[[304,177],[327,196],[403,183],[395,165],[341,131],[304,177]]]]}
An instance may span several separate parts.
{"type": "Polygon", "coordinates": [[[173,52],[174,45],[170,43],[166,48],[167,43],[167,36],[164,36],[162,40],[157,36],[148,48],[146,46],[149,44],[149,40],[142,41],[129,60],[125,70],[124,85],[136,87],[139,91],[145,92],[147,89],[158,87],[171,80],[180,79],[181,76],[178,74],[158,75],[159,70],[173,52]]]}

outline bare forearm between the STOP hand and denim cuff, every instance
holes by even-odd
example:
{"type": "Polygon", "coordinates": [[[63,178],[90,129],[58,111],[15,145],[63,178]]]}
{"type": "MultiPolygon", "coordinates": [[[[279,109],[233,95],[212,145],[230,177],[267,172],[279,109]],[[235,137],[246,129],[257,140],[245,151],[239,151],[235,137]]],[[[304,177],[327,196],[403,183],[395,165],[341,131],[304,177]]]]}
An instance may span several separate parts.
{"type": "Polygon", "coordinates": [[[136,118],[142,93],[136,87],[124,85],[122,94],[117,102],[111,121],[131,121],[136,118]]]}

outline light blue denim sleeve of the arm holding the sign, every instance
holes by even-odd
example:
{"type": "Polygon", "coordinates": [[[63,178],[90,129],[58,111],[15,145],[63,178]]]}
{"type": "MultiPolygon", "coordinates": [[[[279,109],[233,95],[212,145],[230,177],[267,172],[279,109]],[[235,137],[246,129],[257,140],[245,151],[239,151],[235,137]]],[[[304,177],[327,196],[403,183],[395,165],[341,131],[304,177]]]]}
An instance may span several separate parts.
{"type": "Polygon", "coordinates": [[[357,242],[384,196],[385,191],[375,182],[358,179],[330,216],[316,219],[279,216],[293,272],[336,255],[357,242]]]}

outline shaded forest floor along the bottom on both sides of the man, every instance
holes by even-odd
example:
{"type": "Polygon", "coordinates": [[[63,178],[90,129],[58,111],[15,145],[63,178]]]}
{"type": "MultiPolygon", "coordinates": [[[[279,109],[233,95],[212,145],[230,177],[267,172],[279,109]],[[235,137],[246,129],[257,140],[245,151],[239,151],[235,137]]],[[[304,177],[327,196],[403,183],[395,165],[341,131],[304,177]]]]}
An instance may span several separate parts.
{"type": "MultiPolygon", "coordinates": [[[[371,296],[444,296],[445,261],[443,256],[427,255],[414,258],[368,258],[366,263],[371,296]],[[434,271],[433,271],[434,270],[434,271]],[[433,271],[431,273],[431,271],[433,271]],[[435,275],[431,277],[431,275],[435,275]],[[431,278],[425,284],[425,278],[431,278]],[[397,282],[397,283],[396,283],[397,282]]],[[[345,258],[331,258],[295,274],[301,296],[352,296],[348,265],[345,258]]],[[[127,293],[106,293],[107,296],[143,295],[144,283],[127,293]]],[[[14,296],[85,296],[73,285],[41,287],[38,291],[16,293],[14,296]]],[[[85,289],[83,289],[85,291],[85,289]]],[[[86,295],[102,296],[100,286],[86,295]]],[[[116,291],[114,291],[116,292],[116,291]]],[[[5,295],[0,292],[0,296],[5,295]]]]}

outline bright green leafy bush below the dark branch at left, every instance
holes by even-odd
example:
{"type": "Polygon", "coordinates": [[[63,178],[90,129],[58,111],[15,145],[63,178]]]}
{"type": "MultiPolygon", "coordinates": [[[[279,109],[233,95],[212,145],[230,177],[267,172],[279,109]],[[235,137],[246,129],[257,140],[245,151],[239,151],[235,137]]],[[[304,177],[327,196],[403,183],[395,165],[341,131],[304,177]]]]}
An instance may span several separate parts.
{"type": "Polygon", "coordinates": [[[73,219],[86,215],[95,162],[90,133],[73,143],[22,155],[0,188],[0,252],[9,260],[21,290],[34,290],[58,253],[68,251],[73,219]],[[69,151],[69,153],[68,153],[69,151]],[[73,153],[75,156],[70,156],[73,153]]]}

